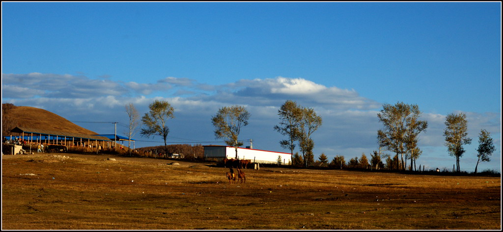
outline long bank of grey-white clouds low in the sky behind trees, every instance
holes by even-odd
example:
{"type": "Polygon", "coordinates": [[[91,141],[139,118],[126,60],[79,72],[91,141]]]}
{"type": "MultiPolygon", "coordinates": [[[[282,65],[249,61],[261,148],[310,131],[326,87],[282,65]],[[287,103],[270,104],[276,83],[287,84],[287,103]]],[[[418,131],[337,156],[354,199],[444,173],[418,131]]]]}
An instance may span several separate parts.
{"type": "MultiPolygon", "coordinates": [[[[141,83],[114,81],[108,75],[106,78],[93,79],[69,74],[2,74],[3,103],[43,108],[70,121],[120,122],[126,125],[126,103],[132,102],[140,114],[144,114],[154,99],[167,100],[175,108],[176,118],[169,125],[174,138],[172,142],[216,141],[210,122],[212,115],[219,107],[239,104],[246,106],[251,113],[250,124],[243,129],[241,139],[253,139],[254,148],[257,149],[288,152],[279,146],[283,138],[273,130],[279,123],[277,111],[286,100],[313,107],[323,118],[323,126],[313,134],[316,157],[324,153],[331,159],[341,154],[349,160],[362,153],[369,155],[377,149],[376,133],[381,128],[377,113],[382,103],[362,97],[353,89],[324,86],[303,78],[279,76],[212,85],[177,77],[141,83]]],[[[473,138],[472,145],[466,148],[465,156],[471,157],[467,158],[467,162],[473,161],[480,129],[486,129],[492,134],[498,148],[493,155],[498,165],[491,168],[499,170],[500,113],[465,113],[469,123],[468,133],[473,138]]],[[[422,120],[429,123],[419,143],[424,148],[424,157],[430,157],[428,161],[424,160],[427,166],[450,167],[452,164],[445,164],[445,160],[454,162],[444,146],[445,117],[430,112],[422,115],[422,120]]],[[[101,134],[113,131],[113,125],[79,126],[101,134]]],[[[135,139],[146,140],[139,137],[138,133],[135,139]]],[[[138,142],[137,146],[154,145],[157,144],[138,142]]]]}

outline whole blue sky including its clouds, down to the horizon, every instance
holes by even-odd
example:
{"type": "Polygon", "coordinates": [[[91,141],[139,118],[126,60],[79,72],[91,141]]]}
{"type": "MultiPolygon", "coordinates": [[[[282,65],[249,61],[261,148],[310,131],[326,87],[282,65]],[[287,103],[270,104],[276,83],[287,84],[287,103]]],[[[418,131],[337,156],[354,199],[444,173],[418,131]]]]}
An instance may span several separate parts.
{"type": "Polygon", "coordinates": [[[464,112],[473,143],[461,168],[473,170],[486,129],[497,151],[479,166],[500,170],[500,22],[497,2],[3,2],[2,102],[125,126],[127,102],[144,114],[161,98],[175,107],[169,142],[180,143],[217,142],[211,116],[240,104],[252,115],[241,138],[285,152],[272,128],[292,99],[323,117],[315,155],[349,160],[376,149],[382,104],[403,101],[430,125],[418,163],[452,167],[445,116],[464,112]]]}

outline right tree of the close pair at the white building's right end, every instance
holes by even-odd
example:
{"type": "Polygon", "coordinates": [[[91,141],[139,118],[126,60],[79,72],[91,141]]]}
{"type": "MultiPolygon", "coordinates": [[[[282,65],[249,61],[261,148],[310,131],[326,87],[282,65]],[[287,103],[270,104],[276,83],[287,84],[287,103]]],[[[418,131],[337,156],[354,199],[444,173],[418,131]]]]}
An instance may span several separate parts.
{"type": "Polygon", "coordinates": [[[311,158],[313,159],[312,161],[314,161],[314,155],[312,154],[314,141],[311,139],[311,135],[318,130],[319,127],[321,127],[323,120],[321,119],[321,116],[316,114],[314,108],[303,107],[301,110],[302,116],[299,123],[299,147],[302,152],[302,156],[304,157],[304,166],[307,167],[308,161],[310,161],[311,158]]]}

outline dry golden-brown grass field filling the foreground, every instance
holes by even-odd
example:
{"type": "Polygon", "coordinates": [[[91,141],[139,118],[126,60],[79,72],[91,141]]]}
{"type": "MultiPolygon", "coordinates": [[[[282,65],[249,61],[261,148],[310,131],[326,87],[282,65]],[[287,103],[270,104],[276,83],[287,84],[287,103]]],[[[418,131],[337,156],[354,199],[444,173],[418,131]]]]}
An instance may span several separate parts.
{"type": "Polygon", "coordinates": [[[501,229],[499,177],[172,162],[5,155],[2,229],[501,229]]]}

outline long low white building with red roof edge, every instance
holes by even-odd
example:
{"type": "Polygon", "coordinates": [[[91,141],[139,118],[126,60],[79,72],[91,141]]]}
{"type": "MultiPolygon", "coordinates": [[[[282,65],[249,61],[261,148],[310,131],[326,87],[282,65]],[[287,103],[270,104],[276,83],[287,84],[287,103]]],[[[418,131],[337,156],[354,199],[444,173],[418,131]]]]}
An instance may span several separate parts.
{"type": "MultiPolygon", "coordinates": [[[[234,147],[220,146],[220,145],[207,145],[204,147],[204,158],[216,158],[222,160],[223,158],[235,159],[236,150],[234,147]]],[[[237,157],[240,160],[251,160],[251,162],[261,164],[276,164],[278,163],[278,156],[281,156],[281,163],[291,163],[291,154],[283,152],[271,152],[248,148],[237,148],[237,157]]]]}

